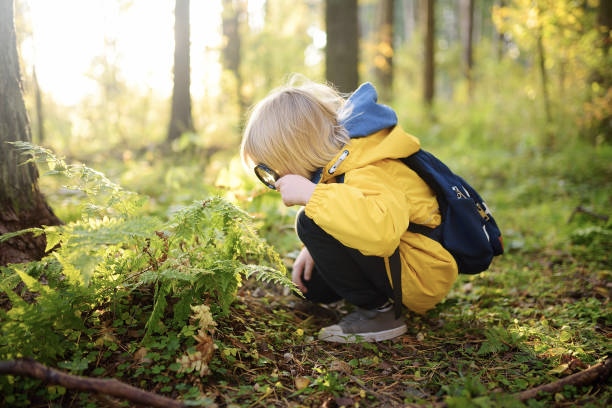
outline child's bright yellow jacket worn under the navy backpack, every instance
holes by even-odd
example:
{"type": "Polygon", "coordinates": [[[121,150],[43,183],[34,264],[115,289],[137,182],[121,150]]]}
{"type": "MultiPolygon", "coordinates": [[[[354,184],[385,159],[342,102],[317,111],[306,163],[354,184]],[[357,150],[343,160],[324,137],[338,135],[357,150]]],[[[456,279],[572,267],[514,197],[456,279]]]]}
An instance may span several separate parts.
{"type": "MultiPolygon", "coordinates": [[[[351,139],[323,169],[305,212],[364,255],[389,257],[399,245],[403,303],[424,313],[449,292],[457,264],[438,242],[407,231],[410,222],[435,227],[441,220],[433,191],[395,160],[419,148],[419,140],[399,125],[351,139]],[[336,183],[341,174],[344,182],[336,183]]],[[[387,273],[391,281],[389,268],[387,273]]]]}

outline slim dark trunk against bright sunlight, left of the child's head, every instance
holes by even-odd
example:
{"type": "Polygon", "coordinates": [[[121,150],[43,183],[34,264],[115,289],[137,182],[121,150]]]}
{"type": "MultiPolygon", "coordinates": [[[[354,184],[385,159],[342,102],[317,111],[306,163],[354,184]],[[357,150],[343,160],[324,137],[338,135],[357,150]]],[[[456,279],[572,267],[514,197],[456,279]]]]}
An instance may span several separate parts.
{"type": "Polygon", "coordinates": [[[189,59],[189,0],[176,0],[174,8],[174,88],[168,142],[193,132],[189,59]]]}

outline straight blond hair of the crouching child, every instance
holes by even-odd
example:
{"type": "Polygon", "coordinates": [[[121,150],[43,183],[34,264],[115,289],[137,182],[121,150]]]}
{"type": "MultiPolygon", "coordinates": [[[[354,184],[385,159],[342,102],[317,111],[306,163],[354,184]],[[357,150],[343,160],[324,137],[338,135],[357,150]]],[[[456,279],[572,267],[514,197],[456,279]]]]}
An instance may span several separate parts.
{"type": "Polygon", "coordinates": [[[344,105],[331,86],[294,77],[251,111],[240,148],[243,164],[253,169],[263,163],[281,176],[310,178],[349,141],[339,117],[344,105]]]}

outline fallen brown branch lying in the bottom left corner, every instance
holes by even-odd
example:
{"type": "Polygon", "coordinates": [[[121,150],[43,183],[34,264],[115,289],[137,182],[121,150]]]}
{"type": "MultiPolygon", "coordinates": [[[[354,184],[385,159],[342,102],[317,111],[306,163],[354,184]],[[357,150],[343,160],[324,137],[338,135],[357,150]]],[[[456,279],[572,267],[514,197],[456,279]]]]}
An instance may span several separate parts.
{"type": "Polygon", "coordinates": [[[37,378],[45,384],[61,385],[79,391],[96,392],[150,407],[182,408],[186,406],[181,401],[141,390],[116,379],[66,374],[46,367],[32,359],[0,361],[0,374],[25,375],[37,378]]]}

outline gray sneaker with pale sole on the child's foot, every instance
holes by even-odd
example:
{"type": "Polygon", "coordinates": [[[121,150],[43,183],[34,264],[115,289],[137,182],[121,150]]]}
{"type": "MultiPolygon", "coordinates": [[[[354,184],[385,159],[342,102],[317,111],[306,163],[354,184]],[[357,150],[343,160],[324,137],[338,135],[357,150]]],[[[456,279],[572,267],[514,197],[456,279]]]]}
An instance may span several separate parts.
{"type": "Polygon", "coordinates": [[[400,336],[408,330],[403,319],[395,318],[393,308],[379,311],[357,309],[346,315],[338,324],[324,327],[319,340],[335,343],[375,342],[400,336]]]}

